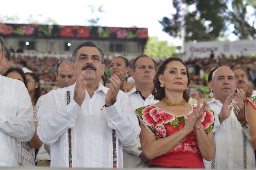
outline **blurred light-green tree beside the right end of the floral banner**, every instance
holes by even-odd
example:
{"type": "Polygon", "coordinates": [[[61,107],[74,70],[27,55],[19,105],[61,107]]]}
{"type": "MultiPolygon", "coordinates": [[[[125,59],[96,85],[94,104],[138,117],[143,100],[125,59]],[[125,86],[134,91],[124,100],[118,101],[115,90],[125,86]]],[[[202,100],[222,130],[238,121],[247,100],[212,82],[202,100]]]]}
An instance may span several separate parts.
{"type": "Polygon", "coordinates": [[[158,37],[154,36],[148,38],[144,54],[155,58],[169,58],[172,57],[175,50],[175,46],[169,46],[167,41],[158,40],[158,37]]]}

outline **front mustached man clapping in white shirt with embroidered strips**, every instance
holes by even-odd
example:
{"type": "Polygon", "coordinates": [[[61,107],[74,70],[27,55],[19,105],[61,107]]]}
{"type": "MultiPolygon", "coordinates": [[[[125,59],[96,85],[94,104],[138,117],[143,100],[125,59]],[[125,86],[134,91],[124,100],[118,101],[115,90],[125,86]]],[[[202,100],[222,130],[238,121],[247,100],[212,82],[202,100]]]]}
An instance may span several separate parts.
{"type": "Polygon", "coordinates": [[[131,101],[119,91],[120,79],[110,88],[100,83],[104,53],[93,42],[78,45],[71,69],[76,83],[50,91],[38,111],[37,133],[50,145],[51,167],[123,167],[123,145],[140,133],[131,101]]]}

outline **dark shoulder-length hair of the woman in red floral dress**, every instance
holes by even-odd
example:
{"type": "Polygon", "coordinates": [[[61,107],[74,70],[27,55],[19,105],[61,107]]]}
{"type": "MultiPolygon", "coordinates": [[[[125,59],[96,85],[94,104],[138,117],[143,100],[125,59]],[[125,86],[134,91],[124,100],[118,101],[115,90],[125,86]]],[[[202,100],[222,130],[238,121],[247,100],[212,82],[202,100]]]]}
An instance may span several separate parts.
{"type": "Polygon", "coordinates": [[[187,72],[187,90],[183,91],[183,98],[185,98],[186,102],[189,101],[189,84],[190,84],[190,78],[189,78],[189,72],[187,70],[186,64],[177,57],[171,57],[163,61],[160,66],[158,66],[157,72],[154,77],[154,90],[152,91],[152,94],[155,97],[155,100],[161,100],[165,96],[165,88],[160,87],[160,81],[158,80],[159,75],[163,75],[163,73],[166,70],[166,65],[172,61],[180,61],[185,67],[186,67],[186,72],[187,72]]]}

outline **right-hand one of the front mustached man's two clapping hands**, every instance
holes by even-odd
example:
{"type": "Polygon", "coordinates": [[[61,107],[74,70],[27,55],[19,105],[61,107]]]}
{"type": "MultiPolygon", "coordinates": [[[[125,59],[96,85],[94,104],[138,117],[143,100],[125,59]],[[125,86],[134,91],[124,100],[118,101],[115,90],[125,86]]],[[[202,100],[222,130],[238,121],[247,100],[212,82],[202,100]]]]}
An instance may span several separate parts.
{"type": "Polygon", "coordinates": [[[117,96],[117,93],[119,92],[120,84],[121,84],[121,81],[117,75],[111,76],[109,80],[110,80],[109,90],[105,98],[106,106],[111,106],[112,103],[116,101],[116,96],[117,96]]]}

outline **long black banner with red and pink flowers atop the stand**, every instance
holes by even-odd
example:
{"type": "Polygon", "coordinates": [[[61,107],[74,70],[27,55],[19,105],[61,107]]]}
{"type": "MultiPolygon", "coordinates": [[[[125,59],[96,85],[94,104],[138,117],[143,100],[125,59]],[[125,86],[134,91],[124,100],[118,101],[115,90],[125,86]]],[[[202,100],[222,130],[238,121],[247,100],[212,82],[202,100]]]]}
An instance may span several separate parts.
{"type": "Polygon", "coordinates": [[[148,28],[85,27],[38,24],[2,24],[0,36],[38,38],[147,39],[148,28]]]}

